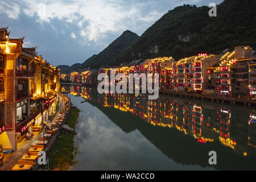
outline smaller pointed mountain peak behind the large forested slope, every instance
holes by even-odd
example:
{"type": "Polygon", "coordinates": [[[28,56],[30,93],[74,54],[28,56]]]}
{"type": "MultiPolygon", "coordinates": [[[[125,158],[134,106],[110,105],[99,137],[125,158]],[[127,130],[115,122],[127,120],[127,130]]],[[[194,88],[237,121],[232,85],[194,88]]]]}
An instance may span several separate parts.
{"type": "Polygon", "coordinates": [[[104,51],[100,52],[98,55],[93,55],[84,63],[82,63],[82,69],[85,67],[91,68],[101,68],[109,67],[112,65],[113,60],[119,53],[121,53],[125,48],[130,46],[134,40],[138,39],[139,36],[133,32],[127,30],[123,32],[119,38],[115,39],[104,51]]]}

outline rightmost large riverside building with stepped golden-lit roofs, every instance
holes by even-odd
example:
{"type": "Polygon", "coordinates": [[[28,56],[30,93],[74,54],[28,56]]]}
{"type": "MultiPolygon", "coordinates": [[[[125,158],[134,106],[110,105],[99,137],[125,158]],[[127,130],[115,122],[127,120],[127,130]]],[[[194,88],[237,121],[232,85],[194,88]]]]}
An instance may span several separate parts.
{"type": "MultiPolygon", "coordinates": [[[[220,96],[246,95],[249,93],[249,62],[253,49],[248,46],[235,47],[221,57],[215,72],[215,94],[220,96]]],[[[253,61],[251,62],[253,65],[253,61]]],[[[252,67],[253,68],[253,67],[252,67]]]]}

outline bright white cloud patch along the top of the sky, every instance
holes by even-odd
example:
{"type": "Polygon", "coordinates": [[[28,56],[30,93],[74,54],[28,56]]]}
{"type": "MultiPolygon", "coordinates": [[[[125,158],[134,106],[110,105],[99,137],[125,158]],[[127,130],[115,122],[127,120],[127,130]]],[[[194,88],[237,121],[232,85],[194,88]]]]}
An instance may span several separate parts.
{"type": "MultiPolygon", "coordinates": [[[[7,1],[9,3],[9,1],[7,1]]],[[[147,3],[127,3],[124,0],[89,0],[89,1],[14,1],[8,5],[2,2],[3,10],[9,18],[16,19],[22,13],[27,16],[36,16],[39,23],[52,23],[53,19],[63,20],[67,23],[76,22],[81,28],[80,35],[85,41],[98,41],[108,32],[122,32],[136,25],[136,20],[151,22],[163,13],[148,11],[144,14],[141,9],[147,3]],[[86,27],[84,25],[86,24],[86,27]]]]}

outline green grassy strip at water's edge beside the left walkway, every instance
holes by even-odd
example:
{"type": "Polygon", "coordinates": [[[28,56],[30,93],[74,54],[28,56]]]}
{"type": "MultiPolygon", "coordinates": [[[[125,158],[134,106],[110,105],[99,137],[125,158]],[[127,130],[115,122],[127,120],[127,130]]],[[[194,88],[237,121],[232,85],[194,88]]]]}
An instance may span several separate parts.
{"type": "MultiPolygon", "coordinates": [[[[72,108],[65,125],[75,129],[78,122],[80,110],[72,108]]],[[[75,142],[74,137],[76,134],[67,133],[63,131],[55,144],[55,147],[49,155],[49,169],[51,170],[67,170],[69,166],[75,164],[75,142]]]]}

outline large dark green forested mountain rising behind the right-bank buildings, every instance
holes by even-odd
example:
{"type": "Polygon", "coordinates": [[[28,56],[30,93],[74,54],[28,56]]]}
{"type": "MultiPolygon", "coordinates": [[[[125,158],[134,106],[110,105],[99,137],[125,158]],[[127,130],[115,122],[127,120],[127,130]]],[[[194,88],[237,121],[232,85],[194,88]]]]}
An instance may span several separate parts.
{"type": "Polygon", "coordinates": [[[180,59],[242,45],[256,48],[255,0],[225,0],[217,6],[217,17],[210,17],[209,10],[207,6],[176,7],[118,55],[114,63],[157,56],[180,59]]]}

